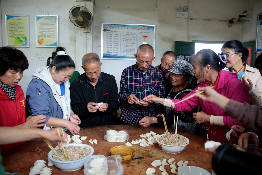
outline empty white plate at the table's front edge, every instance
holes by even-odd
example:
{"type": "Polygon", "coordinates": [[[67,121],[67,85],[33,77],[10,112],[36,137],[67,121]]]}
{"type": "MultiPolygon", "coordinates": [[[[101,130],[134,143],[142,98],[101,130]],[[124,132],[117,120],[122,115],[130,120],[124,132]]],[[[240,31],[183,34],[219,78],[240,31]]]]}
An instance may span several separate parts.
{"type": "Polygon", "coordinates": [[[178,170],[178,175],[211,175],[208,171],[197,166],[185,166],[178,170]]]}

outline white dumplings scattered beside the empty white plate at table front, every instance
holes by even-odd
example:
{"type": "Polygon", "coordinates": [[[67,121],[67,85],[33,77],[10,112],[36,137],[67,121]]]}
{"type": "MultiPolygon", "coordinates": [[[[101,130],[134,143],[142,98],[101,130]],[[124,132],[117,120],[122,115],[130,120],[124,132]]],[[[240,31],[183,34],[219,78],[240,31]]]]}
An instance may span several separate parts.
{"type": "MultiPolygon", "coordinates": [[[[162,171],[161,172],[161,175],[168,175],[168,173],[166,172],[165,170],[165,166],[169,165],[170,164],[170,168],[171,168],[171,173],[173,174],[178,174],[177,171],[182,168],[182,167],[185,167],[187,166],[188,164],[188,161],[185,161],[183,162],[182,160],[180,160],[178,163],[177,163],[177,166],[178,168],[176,167],[176,162],[173,163],[175,159],[171,158],[171,159],[168,159],[168,163],[166,163],[166,159],[163,159],[162,161],[161,160],[154,160],[151,165],[153,167],[159,167],[159,170],[162,171]]],[[[148,168],[146,170],[146,174],[147,175],[152,175],[153,173],[155,173],[155,169],[154,168],[148,168]]]]}

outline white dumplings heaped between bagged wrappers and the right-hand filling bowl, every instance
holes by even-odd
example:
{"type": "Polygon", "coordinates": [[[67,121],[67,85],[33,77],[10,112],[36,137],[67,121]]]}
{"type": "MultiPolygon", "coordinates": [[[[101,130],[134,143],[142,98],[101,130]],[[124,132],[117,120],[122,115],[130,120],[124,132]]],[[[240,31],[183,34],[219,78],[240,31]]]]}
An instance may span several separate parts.
{"type": "Polygon", "coordinates": [[[156,138],[158,136],[159,135],[156,134],[155,132],[150,131],[150,132],[147,132],[145,134],[140,135],[140,137],[142,137],[142,139],[139,139],[139,140],[136,139],[135,141],[132,140],[131,144],[129,142],[127,142],[127,143],[125,143],[125,145],[132,146],[132,144],[133,145],[139,144],[140,147],[146,147],[146,146],[153,145],[153,144],[157,143],[156,138]],[[151,135],[153,135],[153,136],[151,136],[151,135]],[[145,139],[146,137],[148,137],[148,138],[145,139]]]}

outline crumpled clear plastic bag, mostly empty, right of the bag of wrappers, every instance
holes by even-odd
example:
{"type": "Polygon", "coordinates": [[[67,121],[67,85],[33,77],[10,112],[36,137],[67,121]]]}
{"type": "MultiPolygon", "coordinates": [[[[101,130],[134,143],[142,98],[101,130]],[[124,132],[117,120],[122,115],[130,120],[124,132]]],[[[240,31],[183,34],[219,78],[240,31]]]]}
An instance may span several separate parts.
{"type": "Polygon", "coordinates": [[[120,155],[112,155],[107,157],[108,175],[122,175],[124,167],[120,155]]]}

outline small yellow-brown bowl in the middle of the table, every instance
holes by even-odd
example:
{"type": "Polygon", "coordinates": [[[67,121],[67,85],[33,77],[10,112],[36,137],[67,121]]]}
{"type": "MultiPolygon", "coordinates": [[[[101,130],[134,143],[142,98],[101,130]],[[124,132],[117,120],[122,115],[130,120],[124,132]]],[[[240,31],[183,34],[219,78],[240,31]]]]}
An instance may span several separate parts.
{"type": "Polygon", "coordinates": [[[120,145],[115,146],[110,149],[111,155],[120,155],[122,158],[122,161],[128,161],[130,159],[133,159],[135,156],[135,149],[133,147],[120,145]]]}

